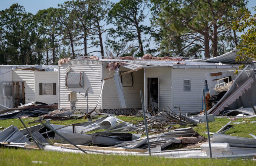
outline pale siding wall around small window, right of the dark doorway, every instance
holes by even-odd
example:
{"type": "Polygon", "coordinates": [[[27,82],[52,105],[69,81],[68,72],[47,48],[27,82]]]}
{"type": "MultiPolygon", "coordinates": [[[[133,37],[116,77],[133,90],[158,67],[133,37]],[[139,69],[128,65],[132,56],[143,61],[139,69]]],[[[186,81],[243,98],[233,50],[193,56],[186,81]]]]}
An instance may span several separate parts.
{"type": "MultiPolygon", "coordinates": [[[[173,106],[180,106],[183,114],[202,111],[205,74],[223,70],[227,69],[173,69],[173,106]],[[191,91],[184,91],[184,79],[190,79],[191,91]]],[[[178,108],[173,110],[178,113],[178,108]]]]}

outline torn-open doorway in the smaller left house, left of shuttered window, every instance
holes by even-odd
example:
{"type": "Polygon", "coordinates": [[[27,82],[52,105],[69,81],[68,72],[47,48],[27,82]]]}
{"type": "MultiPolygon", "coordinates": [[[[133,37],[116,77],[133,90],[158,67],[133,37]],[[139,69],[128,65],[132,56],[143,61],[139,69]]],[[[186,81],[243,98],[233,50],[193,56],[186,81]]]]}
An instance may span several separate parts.
{"type": "Polygon", "coordinates": [[[21,104],[26,104],[24,82],[13,82],[13,107],[17,108],[21,104]]]}

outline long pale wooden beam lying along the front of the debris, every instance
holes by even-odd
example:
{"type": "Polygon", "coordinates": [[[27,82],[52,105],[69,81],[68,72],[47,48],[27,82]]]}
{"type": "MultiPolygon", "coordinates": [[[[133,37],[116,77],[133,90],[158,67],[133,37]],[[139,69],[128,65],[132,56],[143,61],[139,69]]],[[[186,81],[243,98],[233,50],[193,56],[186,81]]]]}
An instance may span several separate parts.
{"type": "MultiPolygon", "coordinates": [[[[74,145],[62,144],[62,143],[54,143],[54,146],[64,146],[68,148],[75,148],[74,145]]],[[[87,150],[122,151],[122,152],[139,152],[139,153],[144,153],[148,151],[146,149],[108,148],[108,147],[100,147],[100,146],[83,146],[83,145],[77,145],[77,146],[81,149],[87,149],[87,150]]]]}

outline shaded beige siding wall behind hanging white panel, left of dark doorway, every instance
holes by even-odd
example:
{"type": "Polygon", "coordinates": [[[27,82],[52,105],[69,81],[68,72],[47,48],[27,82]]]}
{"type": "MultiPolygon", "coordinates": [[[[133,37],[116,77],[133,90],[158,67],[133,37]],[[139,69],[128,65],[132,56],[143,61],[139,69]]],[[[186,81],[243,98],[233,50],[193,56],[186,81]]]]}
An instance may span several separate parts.
{"type": "MultiPolygon", "coordinates": [[[[114,71],[109,73],[106,69],[107,63],[104,62],[102,66],[102,77],[111,77],[114,75],[114,71]]],[[[126,72],[130,69],[121,66],[120,72],[126,72]]],[[[127,104],[127,108],[142,108],[140,90],[144,91],[144,73],[143,69],[133,72],[134,85],[132,87],[123,87],[124,97],[127,104]]],[[[118,109],[120,107],[118,94],[114,79],[106,80],[102,93],[102,109],[118,109]]]]}

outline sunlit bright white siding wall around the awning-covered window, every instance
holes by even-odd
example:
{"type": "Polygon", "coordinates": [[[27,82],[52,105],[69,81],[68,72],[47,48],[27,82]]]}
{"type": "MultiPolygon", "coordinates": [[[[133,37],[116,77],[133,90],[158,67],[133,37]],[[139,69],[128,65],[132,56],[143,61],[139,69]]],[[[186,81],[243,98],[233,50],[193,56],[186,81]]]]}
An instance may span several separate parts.
{"type": "MultiPolygon", "coordinates": [[[[70,65],[70,72],[83,72],[83,88],[82,87],[66,87],[65,78],[66,63],[59,66],[59,108],[70,108],[68,101],[68,94],[70,91],[76,91],[78,99],[78,109],[86,109],[86,97],[79,94],[79,91],[85,95],[86,89],[90,87],[88,92],[88,105],[89,109],[93,109],[98,101],[99,94],[101,93],[101,64],[91,65],[70,65]]],[[[101,106],[99,101],[98,107],[101,106]]]]}

